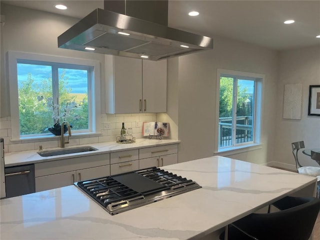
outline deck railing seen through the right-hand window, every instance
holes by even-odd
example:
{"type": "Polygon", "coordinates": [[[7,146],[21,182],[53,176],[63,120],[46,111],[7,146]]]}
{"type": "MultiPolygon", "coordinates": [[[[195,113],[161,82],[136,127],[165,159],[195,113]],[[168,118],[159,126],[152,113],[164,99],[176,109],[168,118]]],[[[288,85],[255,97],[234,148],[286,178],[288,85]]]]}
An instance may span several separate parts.
{"type": "MultiPolygon", "coordinates": [[[[252,116],[237,116],[235,143],[252,141],[252,116]]],[[[219,147],[232,145],[232,117],[219,117],[219,147]]]]}

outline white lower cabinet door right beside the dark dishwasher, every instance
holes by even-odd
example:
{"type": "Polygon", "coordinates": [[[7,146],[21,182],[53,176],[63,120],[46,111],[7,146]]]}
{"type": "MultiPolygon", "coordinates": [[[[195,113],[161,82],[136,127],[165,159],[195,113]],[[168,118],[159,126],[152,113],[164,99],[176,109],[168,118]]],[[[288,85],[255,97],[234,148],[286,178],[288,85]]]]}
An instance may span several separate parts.
{"type": "Polygon", "coordinates": [[[44,191],[57,187],[72,185],[76,181],[75,171],[67,171],[46,176],[35,177],[35,191],[44,191]]]}

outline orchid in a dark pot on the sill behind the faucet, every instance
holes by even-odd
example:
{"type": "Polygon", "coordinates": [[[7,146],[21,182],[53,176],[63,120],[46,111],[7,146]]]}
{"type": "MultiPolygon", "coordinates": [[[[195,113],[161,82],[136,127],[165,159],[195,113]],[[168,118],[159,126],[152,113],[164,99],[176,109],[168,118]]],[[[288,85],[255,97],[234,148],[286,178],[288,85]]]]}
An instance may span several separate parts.
{"type": "MultiPolygon", "coordinates": [[[[45,97],[45,96],[37,96],[38,101],[44,101],[43,104],[46,104],[47,108],[52,111],[52,118],[54,118],[54,124],[52,127],[47,127],[45,130],[48,130],[54,135],[61,135],[61,123],[60,119],[62,121],[65,121],[65,118],[70,116],[70,112],[73,107],[76,106],[76,102],[67,102],[66,105],[60,106],[57,103],[54,103],[52,100],[52,97],[45,97]]],[[[70,125],[72,127],[72,125],[70,125]]],[[[63,125],[63,133],[65,133],[68,130],[66,124],[63,125]]]]}

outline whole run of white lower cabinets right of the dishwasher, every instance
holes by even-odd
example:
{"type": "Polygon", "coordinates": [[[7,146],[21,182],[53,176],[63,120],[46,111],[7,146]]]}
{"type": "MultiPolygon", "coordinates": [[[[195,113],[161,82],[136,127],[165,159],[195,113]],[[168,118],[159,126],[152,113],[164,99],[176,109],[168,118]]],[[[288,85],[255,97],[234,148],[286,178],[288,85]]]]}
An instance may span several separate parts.
{"type": "Polygon", "coordinates": [[[35,191],[177,162],[177,144],[169,144],[34,163],[35,191]]]}

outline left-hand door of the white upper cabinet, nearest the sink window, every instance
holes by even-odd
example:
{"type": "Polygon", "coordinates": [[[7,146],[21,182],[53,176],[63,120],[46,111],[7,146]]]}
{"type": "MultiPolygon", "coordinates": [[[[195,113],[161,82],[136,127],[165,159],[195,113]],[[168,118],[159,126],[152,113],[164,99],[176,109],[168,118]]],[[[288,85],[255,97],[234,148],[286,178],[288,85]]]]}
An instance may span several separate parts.
{"type": "Polygon", "coordinates": [[[139,113],[142,104],[142,60],[114,56],[113,67],[114,113],[139,113]]]}

